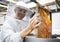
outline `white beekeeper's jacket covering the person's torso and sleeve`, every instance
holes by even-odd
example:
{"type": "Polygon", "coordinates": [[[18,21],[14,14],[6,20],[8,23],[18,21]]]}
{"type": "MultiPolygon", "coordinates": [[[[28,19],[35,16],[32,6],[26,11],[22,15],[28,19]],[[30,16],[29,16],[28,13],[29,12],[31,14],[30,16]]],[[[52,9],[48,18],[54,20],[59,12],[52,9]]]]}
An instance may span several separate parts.
{"type": "Polygon", "coordinates": [[[10,17],[2,27],[3,42],[23,42],[23,39],[20,37],[20,31],[27,25],[28,23],[26,21],[10,17]]]}

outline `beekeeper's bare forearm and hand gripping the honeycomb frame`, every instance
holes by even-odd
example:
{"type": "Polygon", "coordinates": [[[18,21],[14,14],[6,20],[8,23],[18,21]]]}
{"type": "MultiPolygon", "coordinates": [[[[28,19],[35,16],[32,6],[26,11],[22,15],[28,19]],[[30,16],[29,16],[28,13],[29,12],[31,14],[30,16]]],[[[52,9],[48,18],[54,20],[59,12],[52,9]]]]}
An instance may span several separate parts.
{"type": "MultiPolygon", "coordinates": [[[[38,16],[38,15],[37,15],[38,16]]],[[[36,15],[33,16],[30,21],[29,21],[29,25],[21,31],[20,33],[20,37],[24,38],[26,37],[28,34],[30,34],[30,32],[35,29],[36,27],[40,26],[40,20],[38,19],[36,15]]]]}

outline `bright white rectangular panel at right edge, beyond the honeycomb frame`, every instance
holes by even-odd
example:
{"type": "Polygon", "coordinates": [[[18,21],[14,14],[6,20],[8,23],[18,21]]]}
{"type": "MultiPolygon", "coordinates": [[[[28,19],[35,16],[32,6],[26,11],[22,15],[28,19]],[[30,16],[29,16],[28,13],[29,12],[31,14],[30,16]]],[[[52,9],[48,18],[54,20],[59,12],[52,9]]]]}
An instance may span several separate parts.
{"type": "Polygon", "coordinates": [[[60,13],[52,13],[52,34],[60,34],[60,13]]]}

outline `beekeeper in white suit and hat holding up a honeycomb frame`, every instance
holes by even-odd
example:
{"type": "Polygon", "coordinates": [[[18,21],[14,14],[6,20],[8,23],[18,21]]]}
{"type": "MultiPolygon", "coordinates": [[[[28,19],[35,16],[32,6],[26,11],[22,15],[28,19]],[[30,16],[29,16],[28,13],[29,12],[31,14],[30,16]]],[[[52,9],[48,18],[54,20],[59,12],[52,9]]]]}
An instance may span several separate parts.
{"type": "Polygon", "coordinates": [[[17,2],[14,8],[14,16],[10,17],[3,24],[2,38],[3,42],[23,42],[32,30],[40,25],[39,15],[34,15],[28,25],[24,24],[22,19],[27,12],[32,12],[23,1],[17,2]],[[22,25],[22,26],[21,26],[22,25]],[[23,30],[21,28],[24,28],[23,30]]]}

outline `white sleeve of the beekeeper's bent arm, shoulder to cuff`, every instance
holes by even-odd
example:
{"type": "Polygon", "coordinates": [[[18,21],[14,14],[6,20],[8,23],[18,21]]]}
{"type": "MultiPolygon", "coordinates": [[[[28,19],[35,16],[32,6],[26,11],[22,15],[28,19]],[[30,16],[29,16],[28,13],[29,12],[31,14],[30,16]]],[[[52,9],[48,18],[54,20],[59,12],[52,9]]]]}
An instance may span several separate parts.
{"type": "Polygon", "coordinates": [[[20,32],[14,32],[7,24],[2,27],[2,38],[3,42],[23,42],[20,32]]]}

